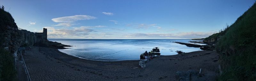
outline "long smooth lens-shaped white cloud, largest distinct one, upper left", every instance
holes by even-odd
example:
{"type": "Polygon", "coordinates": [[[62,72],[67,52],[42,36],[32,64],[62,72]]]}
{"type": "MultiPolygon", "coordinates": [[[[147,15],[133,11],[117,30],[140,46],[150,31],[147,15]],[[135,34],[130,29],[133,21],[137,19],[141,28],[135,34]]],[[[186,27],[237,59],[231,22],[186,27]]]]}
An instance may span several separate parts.
{"type": "Polygon", "coordinates": [[[64,17],[59,17],[59,18],[53,18],[53,22],[75,22],[78,20],[91,20],[91,19],[96,19],[94,16],[88,16],[88,15],[75,15],[75,16],[64,16],[64,17]]]}

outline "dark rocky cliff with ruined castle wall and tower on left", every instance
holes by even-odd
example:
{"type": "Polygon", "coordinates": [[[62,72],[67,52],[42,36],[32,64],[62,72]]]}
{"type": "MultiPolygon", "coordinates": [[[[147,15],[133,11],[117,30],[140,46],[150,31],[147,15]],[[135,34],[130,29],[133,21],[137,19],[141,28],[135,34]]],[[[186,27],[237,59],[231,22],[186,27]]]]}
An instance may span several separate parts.
{"type": "Polygon", "coordinates": [[[20,46],[39,46],[51,48],[70,47],[58,42],[47,40],[47,29],[43,33],[34,33],[24,29],[18,29],[11,14],[0,9],[0,47],[9,51],[17,58],[17,50],[20,46]]]}

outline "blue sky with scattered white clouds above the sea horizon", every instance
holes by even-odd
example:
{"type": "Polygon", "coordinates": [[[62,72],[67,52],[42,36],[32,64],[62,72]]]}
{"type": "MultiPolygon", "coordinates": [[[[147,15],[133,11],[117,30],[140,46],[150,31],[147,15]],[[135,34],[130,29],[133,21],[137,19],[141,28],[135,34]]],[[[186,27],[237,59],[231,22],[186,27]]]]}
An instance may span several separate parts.
{"type": "Polygon", "coordinates": [[[254,0],[0,0],[17,26],[48,38],[193,39],[218,33],[254,0]]]}

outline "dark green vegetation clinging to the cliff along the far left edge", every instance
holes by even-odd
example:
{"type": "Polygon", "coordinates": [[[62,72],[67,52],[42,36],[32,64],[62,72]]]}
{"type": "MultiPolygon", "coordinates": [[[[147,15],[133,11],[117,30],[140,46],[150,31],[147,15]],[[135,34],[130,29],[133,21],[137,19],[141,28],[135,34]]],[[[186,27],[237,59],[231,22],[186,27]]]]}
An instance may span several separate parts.
{"type": "Polygon", "coordinates": [[[13,55],[3,48],[5,38],[2,32],[7,25],[14,25],[14,19],[2,6],[0,8],[0,81],[15,81],[17,79],[13,55]]]}

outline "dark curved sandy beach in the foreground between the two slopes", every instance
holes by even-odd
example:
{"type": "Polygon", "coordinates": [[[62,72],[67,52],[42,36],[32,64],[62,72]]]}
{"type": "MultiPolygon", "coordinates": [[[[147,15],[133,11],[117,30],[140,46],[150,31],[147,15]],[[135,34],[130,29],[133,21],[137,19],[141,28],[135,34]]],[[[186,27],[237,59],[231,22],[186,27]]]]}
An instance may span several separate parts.
{"type": "Polygon", "coordinates": [[[200,68],[208,81],[219,75],[219,56],[214,51],[160,56],[147,62],[144,69],[139,60],[94,61],[45,47],[32,47],[23,57],[32,81],[177,81],[177,71],[200,68]]]}

